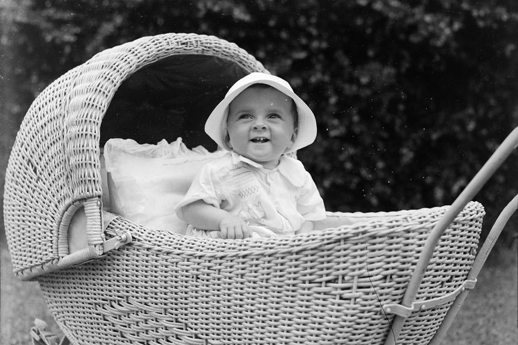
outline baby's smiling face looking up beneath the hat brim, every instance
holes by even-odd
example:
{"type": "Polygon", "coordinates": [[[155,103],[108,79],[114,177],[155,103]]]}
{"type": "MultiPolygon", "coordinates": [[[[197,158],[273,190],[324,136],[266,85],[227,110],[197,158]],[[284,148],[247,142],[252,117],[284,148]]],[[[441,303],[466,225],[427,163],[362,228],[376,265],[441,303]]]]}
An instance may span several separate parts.
{"type": "Polygon", "coordinates": [[[273,87],[244,89],[228,107],[229,146],[266,169],[293,145],[292,99],[273,87]]]}

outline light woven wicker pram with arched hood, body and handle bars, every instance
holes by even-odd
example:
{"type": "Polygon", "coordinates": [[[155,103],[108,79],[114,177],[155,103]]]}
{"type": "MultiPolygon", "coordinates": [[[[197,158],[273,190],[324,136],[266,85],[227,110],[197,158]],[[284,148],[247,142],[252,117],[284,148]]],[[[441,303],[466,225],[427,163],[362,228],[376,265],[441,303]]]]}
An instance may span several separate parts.
{"type": "Polygon", "coordinates": [[[192,58],[210,68],[182,74],[182,87],[207,82],[207,70],[221,81],[201,103],[244,74],[266,71],[215,37],[144,37],[64,74],[24,118],[6,172],[8,245],[15,274],[39,281],[66,337],[74,344],[440,343],[518,204],[511,201],[476,258],[484,209],[470,200],[512,152],[518,131],[452,206],[328,212],[324,230],[292,238],[199,239],[122,217],[103,226],[101,124],[116,91],[149,66],[179,72],[192,58]],[[85,246],[71,250],[70,222],[82,207],[85,246]]]}

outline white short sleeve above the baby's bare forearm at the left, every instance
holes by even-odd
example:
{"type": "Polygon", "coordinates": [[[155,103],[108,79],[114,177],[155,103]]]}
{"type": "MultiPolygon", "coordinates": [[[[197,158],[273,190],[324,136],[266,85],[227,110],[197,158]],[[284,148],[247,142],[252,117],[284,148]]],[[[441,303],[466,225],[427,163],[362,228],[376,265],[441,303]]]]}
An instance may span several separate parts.
{"type": "Polygon", "coordinates": [[[191,187],[185,193],[185,197],[176,206],[175,211],[178,218],[185,220],[182,207],[198,200],[203,200],[214,207],[220,207],[221,183],[218,178],[218,170],[218,167],[213,166],[211,163],[207,163],[202,167],[202,170],[194,178],[191,187]]]}

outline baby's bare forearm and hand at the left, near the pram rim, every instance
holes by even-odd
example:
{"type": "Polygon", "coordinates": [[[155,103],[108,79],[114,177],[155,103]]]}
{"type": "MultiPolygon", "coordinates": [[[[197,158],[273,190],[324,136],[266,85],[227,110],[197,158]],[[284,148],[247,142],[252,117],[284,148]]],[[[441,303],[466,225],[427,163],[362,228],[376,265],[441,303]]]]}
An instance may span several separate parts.
{"type": "Polygon", "coordinates": [[[247,223],[224,209],[194,201],[182,207],[183,217],[193,227],[204,230],[220,230],[222,238],[240,239],[250,237],[247,223]]]}

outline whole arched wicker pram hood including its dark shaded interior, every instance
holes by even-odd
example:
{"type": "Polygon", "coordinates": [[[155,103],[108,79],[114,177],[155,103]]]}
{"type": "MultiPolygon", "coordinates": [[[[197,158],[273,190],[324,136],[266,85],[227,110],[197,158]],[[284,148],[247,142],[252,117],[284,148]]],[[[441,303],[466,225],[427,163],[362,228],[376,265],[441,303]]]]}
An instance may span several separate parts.
{"type": "Polygon", "coordinates": [[[193,146],[214,148],[197,127],[253,71],[267,72],[234,43],[164,34],[102,51],[45,88],[24,117],[6,171],[4,221],[16,275],[31,279],[103,257],[107,191],[99,155],[107,139],[131,131],[152,143],[181,133],[193,146]],[[81,207],[88,246],[70,256],[68,227],[81,207]]]}

